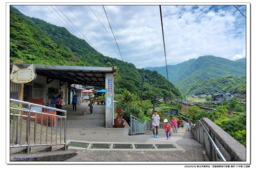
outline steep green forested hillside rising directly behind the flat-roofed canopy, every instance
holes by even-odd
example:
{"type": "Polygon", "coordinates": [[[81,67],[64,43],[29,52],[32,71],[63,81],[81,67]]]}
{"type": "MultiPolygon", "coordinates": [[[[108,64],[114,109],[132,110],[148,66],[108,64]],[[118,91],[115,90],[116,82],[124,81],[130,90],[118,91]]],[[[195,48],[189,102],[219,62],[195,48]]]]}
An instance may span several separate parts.
{"type": "MultiPolygon", "coordinates": [[[[27,17],[16,8],[10,8],[10,62],[42,65],[76,65],[94,67],[117,66],[115,93],[129,90],[139,95],[142,70],[133,64],[103,56],[85,40],[70,34],[66,28],[58,27],[37,18],[27,17]]],[[[167,80],[157,72],[147,71],[149,92],[157,96],[168,92],[167,80]]],[[[180,95],[172,85],[171,91],[180,95]]],[[[151,96],[151,98],[153,98],[151,96]]]]}

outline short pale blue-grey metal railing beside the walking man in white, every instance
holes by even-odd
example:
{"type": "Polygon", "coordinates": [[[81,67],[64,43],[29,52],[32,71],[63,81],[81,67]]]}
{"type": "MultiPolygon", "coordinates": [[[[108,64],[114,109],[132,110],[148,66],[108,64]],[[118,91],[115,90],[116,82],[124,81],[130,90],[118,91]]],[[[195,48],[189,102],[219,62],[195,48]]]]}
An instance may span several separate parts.
{"type": "Polygon", "coordinates": [[[144,134],[146,130],[151,130],[151,122],[145,121],[143,123],[140,119],[131,115],[130,135],[144,134]]]}

